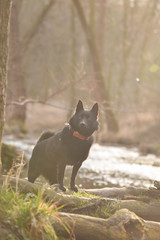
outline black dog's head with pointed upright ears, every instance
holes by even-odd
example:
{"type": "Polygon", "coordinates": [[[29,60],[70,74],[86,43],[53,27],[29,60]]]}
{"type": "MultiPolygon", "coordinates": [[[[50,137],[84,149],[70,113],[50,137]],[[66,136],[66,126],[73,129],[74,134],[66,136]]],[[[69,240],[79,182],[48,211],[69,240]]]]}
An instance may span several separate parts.
{"type": "Polygon", "coordinates": [[[70,119],[71,127],[84,135],[91,136],[98,129],[98,103],[95,103],[91,110],[84,110],[82,101],[79,100],[75,114],[70,119]]]}

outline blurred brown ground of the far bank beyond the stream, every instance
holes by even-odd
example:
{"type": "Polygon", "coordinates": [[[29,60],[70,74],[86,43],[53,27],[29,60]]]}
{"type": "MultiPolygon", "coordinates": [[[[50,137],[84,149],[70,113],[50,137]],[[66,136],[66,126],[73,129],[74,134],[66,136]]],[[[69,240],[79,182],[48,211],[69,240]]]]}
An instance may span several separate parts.
{"type": "MultiPolygon", "coordinates": [[[[62,103],[63,105],[64,103],[62,103]]],[[[18,123],[8,126],[6,135],[13,134],[18,138],[37,139],[45,129],[58,132],[68,122],[66,110],[40,104],[27,105],[25,133],[20,132],[18,123]],[[34,114],[33,114],[34,113],[34,114]],[[44,119],[44,116],[45,117],[44,119]],[[28,137],[29,136],[29,137],[28,137]]],[[[95,142],[103,145],[120,145],[136,147],[142,154],[160,156],[160,124],[159,114],[150,112],[117,112],[119,131],[111,133],[105,124],[104,113],[100,109],[99,130],[95,134],[95,142]]]]}

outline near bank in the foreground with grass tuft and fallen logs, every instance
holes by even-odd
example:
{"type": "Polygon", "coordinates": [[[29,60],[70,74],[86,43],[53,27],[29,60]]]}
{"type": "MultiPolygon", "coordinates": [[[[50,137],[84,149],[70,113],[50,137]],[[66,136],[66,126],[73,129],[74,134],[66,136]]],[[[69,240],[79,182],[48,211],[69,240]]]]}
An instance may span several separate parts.
{"type": "Polygon", "coordinates": [[[96,197],[92,189],[89,194],[85,189],[80,194],[62,193],[23,179],[3,179],[1,239],[159,240],[156,188],[95,189],[96,197]]]}

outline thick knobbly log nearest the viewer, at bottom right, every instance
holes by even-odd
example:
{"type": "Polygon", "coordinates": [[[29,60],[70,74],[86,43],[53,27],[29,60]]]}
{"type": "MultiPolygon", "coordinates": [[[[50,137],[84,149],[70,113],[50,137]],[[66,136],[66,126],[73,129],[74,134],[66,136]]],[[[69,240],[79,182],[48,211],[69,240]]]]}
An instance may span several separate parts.
{"type": "Polygon", "coordinates": [[[76,240],[159,240],[160,223],[145,221],[127,209],[108,219],[59,213],[53,227],[59,237],[76,240]],[[64,228],[64,225],[66,228],[64,228]]]}

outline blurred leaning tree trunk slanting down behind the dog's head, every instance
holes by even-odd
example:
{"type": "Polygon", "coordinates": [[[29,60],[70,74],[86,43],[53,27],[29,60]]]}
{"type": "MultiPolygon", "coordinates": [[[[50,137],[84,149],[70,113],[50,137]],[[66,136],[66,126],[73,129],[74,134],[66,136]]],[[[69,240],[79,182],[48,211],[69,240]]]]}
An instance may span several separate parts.
{"type": "Polygon", "coordinates": [[[85,32],[89,51],[91,54],[91,60],[93,63],[93,68],[95,71],[95,78],[96,78],[97,100],[101,101],[101,102],[105,101],[105,107],[107,108],[105,110],[105,117],[106,117],[106,122],[108,125],[108,130],[112,131],[112,132],[116,132],[116,131],[118,131],[118,123],[116,121],[116,118],[115,118],[113,112],[110,109],[109,93],[105,86],[105,80],[104,80],[104,76],[102,73],[102,66],[101,66],[99,54],[98,54],[98,51],[96,48],[95,39],[93,37],[91,29],[89,28],[89,26],[87,24],[87,21],[86,21],[85,15],[84,15],[84,11],[80,4],[80,1],[79,0],[72,0],[72,1],[77,9],[77,13],[78,13],[80,22],[82,24],[83,30],[85,32]]]}

